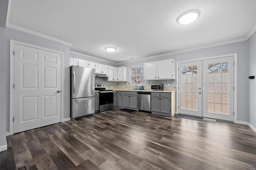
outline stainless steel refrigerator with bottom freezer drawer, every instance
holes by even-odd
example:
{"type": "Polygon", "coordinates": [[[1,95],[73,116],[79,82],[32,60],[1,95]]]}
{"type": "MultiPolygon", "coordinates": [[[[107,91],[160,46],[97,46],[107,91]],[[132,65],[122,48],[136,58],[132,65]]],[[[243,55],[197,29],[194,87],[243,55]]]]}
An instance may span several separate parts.
{"type": "Polygon", "coordinates": [[[70,66],[70,117],[94,113],[95,69],[70,66]]]}

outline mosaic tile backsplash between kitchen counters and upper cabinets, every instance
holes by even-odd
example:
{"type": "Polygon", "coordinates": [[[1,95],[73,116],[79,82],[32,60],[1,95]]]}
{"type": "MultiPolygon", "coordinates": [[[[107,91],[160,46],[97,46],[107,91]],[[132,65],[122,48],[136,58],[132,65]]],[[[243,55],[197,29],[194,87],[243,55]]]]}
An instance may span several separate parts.
{"type": "MultiPolygon", "coordinates": [[[[176,88],[176,79],[171,80],[145,80],[144,89],[150,89],[152,85],[163,84],[164,88],[176,88]],[[169,83],[169,87],[168,87],[169,83]]],[[[130,85],[130,81],[108,81],[108,78],[95,77],[95,84],[105,84],[107,88],[134,88],[134,85],[130,85]]]]}

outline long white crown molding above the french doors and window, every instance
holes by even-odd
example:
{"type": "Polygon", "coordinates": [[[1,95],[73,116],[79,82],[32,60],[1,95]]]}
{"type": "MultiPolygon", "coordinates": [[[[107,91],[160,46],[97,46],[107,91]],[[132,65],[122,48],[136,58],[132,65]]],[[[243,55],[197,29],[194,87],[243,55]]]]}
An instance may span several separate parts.
{"type": "Polygon", "coordinates": [[[158,57],[163,57],[163,56],[167,56],[167,55],[174,55],[174,54],[178,54],[178,53],[185,53],[185,52],[189,52],[189,51],[195,51],[195,50],[198,50],[198,49],[216,47],[216,46],[226,45],[226,44],[230,44],[230,43],[242,42],[242,41],[246,41],[246,40],[248,40],[248,39],[247,38],[240,38],[240,39],[231,40],[231,41],[227,41],[227,42],[214,43],[214,44],[210,44],[210,45],[204,45],[204,46],[201,46],[201,47],[195,47],[195,48],[190,48],[190,49],[184,49],[184,50],[181,50],[181,51],[175,51],[175,52],[171,52],[171,53],[164,53],[164,54],[160,54],[160,55],[154,55],[154,56],[150,56],[150,57],[135,59],[135,60],[132,60],[132,61],[124,61],[124,62],[121,62],[121,63],[117,63],[117,65],[132,63],[132,62],[136,62],[136,61],[142,61],[142,60],[146,60],[146,59],[158,58],[158,57]]]}

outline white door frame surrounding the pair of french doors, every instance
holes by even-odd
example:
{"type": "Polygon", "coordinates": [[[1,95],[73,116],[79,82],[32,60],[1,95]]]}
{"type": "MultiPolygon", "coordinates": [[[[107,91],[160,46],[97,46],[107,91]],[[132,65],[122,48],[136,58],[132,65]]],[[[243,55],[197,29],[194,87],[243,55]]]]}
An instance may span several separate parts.
{"type": "MultiPolygon", "coordinates": [[[[190,59],[190,60],[185,60],[185,61],[177,61],[176,65],[176,76],[177,76],[177,81],[176,81],[176,87],[179,87],[179,63],[185,63],[185,62],[191,62],[191,61],[199,61],[199,60],[205,60],[205,59],[216,59],[216,58],[222,58],[222,57],[234,57],[234,123],[237,123],[237,53],[232,53],[232,54],[226,54],[226,55],[217,55],[214,57],[204,57],[204,58],[198,58],[198,59],[190,59]]],[[[177,91],[177,103],[176,103],[176,108],[177,108],[177,114],[179,113],[179,88],[176,88],[177,91]]]]}

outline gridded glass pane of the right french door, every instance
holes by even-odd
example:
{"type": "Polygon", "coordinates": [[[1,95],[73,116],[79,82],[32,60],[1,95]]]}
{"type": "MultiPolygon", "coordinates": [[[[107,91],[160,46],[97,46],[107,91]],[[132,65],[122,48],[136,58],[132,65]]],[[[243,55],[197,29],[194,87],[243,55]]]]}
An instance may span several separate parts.
{"type": "Polygon", "coordinates": [[[229,63],[208,64],[208,113],[229,115],[229,63]]]}

